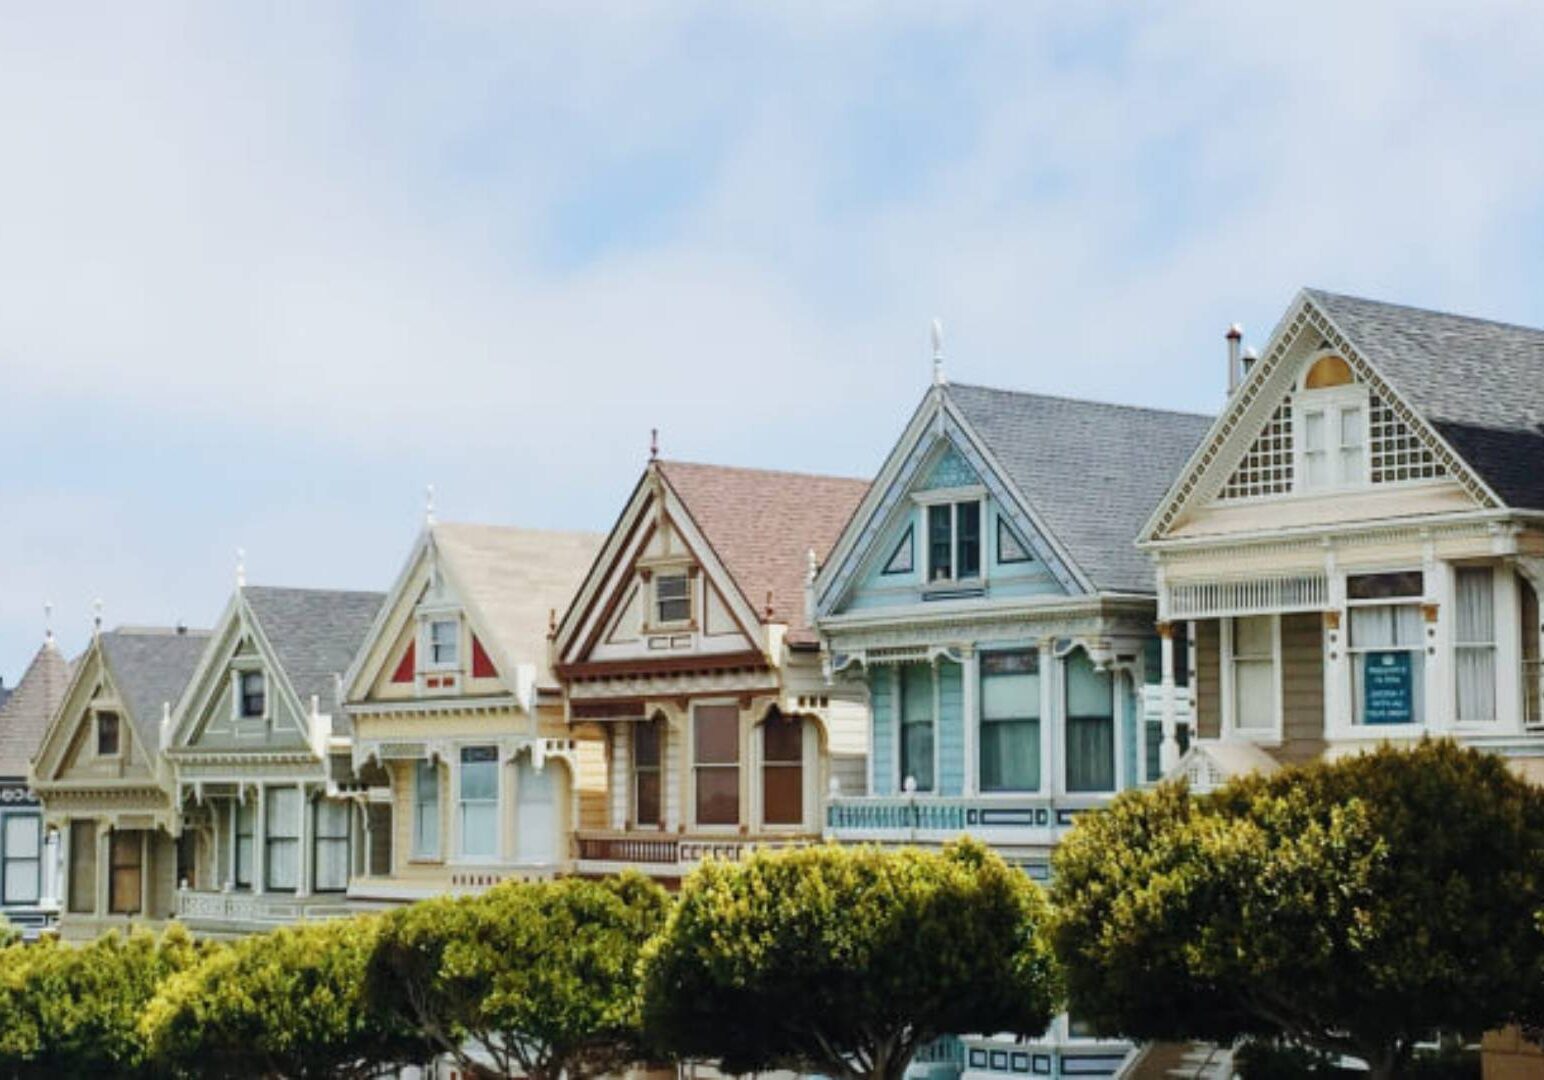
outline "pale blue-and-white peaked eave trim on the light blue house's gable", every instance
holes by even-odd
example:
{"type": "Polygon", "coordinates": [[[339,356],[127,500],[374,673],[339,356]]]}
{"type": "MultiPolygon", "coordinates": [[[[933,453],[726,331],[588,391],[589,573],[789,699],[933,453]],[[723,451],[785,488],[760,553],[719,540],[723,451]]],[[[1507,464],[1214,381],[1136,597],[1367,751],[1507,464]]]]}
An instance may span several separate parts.
{"type": "Polygon", "coordinates": [[[868,494],[858,504],[848,527],[831,548],[831,556],[815,576],[817,618],[829,616],[857,584],[858,572],[872,558],[872,547],[906,505],[908,491],[933,460],[939,437],[948,437],[960,456],[982,477],[1034,556],[1045,562],[1056,581],[1068,592],[1096,592],[1089,575],[1078,567],[1070,552],[1030,508],[1028,499],[1001,467],[991,447],[970,420],[948,399],[946,385],[928,389],[900,439],[880,467],[868,494]]]}

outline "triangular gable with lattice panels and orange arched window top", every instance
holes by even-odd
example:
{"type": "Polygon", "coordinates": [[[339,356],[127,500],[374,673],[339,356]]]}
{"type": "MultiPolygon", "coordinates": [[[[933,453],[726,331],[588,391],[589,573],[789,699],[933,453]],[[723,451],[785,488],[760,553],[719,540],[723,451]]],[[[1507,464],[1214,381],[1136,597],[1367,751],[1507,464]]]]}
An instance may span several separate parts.
{"type": "MultiPolygon", "coordinates": [[[[1285,496],[1382,498],[1428,488],[1424,510],[1496,507],[1454,450],[1303,292],[1143,530],[1175,536],[1201,510],[1285,496]]],[[[1379,504],[1357,510],[1377,516],[1379,504]]],[[[1410,507],[1403,508],[1410,513],[1410,507]]],[[[1345,516],[1339,510],[1331,518],[1345,516]]],[[[1314,524],[1295,510],[1292,524],[1314,524]]]]}

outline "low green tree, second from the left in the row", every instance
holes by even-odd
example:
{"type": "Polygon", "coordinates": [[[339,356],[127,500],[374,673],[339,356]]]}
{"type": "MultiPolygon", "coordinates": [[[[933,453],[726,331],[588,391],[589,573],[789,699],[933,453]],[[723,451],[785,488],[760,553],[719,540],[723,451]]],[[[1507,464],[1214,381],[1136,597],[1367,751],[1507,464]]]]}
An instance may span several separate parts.
{"type": "Polygon", "coordinates": [[[198,1077],[372,1077],[431,1057],[374,1014],[364,975],[380,918],[303,922],[242,938],[168,978],[144,1035],[154,1063],[198,1077]]]}

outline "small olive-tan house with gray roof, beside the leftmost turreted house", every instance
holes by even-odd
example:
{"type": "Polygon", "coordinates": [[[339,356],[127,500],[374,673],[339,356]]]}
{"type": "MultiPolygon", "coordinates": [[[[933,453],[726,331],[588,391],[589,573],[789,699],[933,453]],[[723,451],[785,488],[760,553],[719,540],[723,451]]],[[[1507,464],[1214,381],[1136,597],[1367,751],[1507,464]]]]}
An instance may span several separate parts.
{"type": "Polygon", "coordinates": [[[93,637],[74,664],[31,769],[45,827],[63,841],[63,938],[176,910],[187,853],[161,748],[207,641],[181,626],[122,627],[93,637]]]}

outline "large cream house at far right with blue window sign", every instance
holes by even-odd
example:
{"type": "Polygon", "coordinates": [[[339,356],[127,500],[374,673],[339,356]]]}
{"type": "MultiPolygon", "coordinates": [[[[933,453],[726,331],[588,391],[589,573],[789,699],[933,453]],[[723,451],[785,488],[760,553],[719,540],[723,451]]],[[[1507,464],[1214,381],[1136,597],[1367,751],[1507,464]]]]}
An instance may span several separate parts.
{"type": "Polygon", "coordinates": [[[1197,717],[1167,769],[1439,734],[1544,779],[1544,331],[1305,290],[1248,369],[1231,346],[1141,539],[1197,717]]]}

